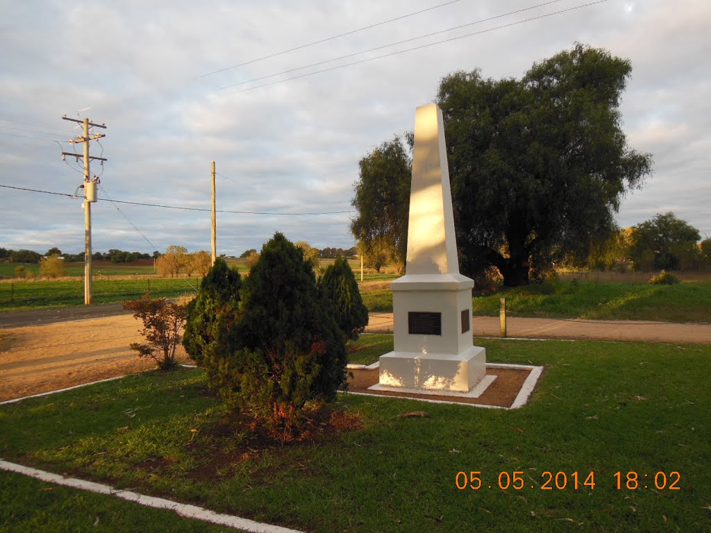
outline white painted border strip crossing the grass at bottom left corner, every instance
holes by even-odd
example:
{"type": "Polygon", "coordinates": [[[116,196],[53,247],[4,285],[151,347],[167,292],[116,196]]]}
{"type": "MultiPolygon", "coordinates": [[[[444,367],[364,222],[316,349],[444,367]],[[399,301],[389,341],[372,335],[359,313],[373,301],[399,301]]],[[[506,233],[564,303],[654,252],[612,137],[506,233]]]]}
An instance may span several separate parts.
{"type": "Polygon", "coordinates": [[[54,483],[55,485],[63,485],[65,487],[87,490],[88,492],[96,492],[97,494],[105,494],[115,496],[122,500],[128,500],[145,507],[153,507],[154,509],[166,509],[175,512],[177,515],[186,518],[201,520],[202,522],[210,522],[221,526],[236,527],[250,533],[301,533],[296,529],[288,529],[287,527],[275,526],[272,524],[262,524],[247,518],[235,517],[232,515],[223,515],[209,509],[203,509],[197,505],[188,505],[185,503],[173,502],[165,498],[156,498],[146,496],[131,490],[117,490],[109,485],[102,483],[94,483],[93,481],[85,481],[75,478],[65,478],[63,475],[45,472],[36,468],[9,463],[0,459],[0,470],[14,472],[22,475],[28,475],[31,478],[44,481],[46,483],[54,483]]]}

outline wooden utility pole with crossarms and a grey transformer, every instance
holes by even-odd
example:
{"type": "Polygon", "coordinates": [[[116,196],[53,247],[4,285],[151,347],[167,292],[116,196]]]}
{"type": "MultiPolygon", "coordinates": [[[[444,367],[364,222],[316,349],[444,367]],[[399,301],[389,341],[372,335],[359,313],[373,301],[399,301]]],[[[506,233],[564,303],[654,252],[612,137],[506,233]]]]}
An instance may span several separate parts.
{"type": "Polygon", "coordinates": [[[62,152],[62,158],[64,159],[66,156],[72,156],[77,158],[77,161],[79,161],[79,158],[81,157],[84,161],[84,185],[82,185],[84,188],[84,305],[90,306],[94,303],[94,283],[91,264],[91,205],[96,201],[96,186],[97,183],[99,183],[99,178],[95,176],[92,179],[89,169],[89,162],[92,159],[96,159],[97,161],[106,161],[106,158],[89,155],[89,141],[105,137],[103,134],[89,136],[89,128],[97,127],[106,129],[106,125],[94,124],[93,122],[89,122],[89,119],[86,118],[82,120],[72,119],[66,115],[64,115],[62,119],[70,120],[71,122],[78,122],[84,126],[83,136],[77,136],[76,139],[70,141],[70,143],[84,143],[84,155],[80,156],[79,154],[73,152],[62,152]]]}

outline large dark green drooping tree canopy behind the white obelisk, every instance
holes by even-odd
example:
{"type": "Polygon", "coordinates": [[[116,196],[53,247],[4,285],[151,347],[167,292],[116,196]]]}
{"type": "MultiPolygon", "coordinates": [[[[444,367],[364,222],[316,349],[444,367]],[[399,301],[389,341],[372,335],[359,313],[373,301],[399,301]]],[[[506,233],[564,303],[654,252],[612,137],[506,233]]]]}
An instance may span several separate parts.
{"type": "MultiPolygon", "coordinates": [[[[442,79],[436,101],[464,274],[476,277],[493,265],[506,286],[528,284],[530,273],[563,258],[584,260],[590,244],[610,234],[622,196],[651,173],[651,156],[631,149],[621,129],[630,73],[629,60],[576,44],[534,63],[520,80],[485,79],[478,70],[442,79]]],[[[378,198],[388,185],[360,185],[370,163],[404,172],[396,155],[380,149],[360,163],[353,200],[360,215],[351,227],[358,239],[407,235],[401,195],[378,198]],[[405,231],[402,223],[373,218],[381,212],[400,214],[405,231]]]]}

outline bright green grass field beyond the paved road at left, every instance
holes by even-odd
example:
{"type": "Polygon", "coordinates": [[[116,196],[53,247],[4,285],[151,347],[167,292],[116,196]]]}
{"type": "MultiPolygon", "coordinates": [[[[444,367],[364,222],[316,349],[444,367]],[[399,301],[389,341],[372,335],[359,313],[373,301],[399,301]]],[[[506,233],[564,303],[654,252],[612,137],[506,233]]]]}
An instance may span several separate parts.
{"type": "MultiPolygon", "coordinates": [[[[150,289],[154,297],[173,298],[195,293],[199,278],[94,279],[94,303],[116,303],[138,298],[150,289]]],[[[84,280],[21,281],[0,283],[0,311],[80,306],[84,303],[84,280]]]]}

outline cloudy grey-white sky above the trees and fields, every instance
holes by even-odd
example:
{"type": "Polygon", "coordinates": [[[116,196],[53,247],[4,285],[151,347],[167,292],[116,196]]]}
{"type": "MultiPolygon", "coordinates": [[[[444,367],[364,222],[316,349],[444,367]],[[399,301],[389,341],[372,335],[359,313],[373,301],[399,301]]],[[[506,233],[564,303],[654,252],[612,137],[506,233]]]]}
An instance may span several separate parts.
{"type": "MultiPolygon", "coordinates": [[[[100,200],[94,251],[209,250],[213,160],[218,210],[328,213],[218,212],[218,253],[277,230],[350,247],[358,160],[412,129],[444,75],[520,77],[577,41],[634,69],[624,130],[655,173],[619,224],[673,211],[711,236],[711,2],[590,1],[1,0],[0,185],[75,193],[81,163],[60,152],[80,130],[61,117],[89,117],[107,126],[100,198],[208,210],[100,200]]],[[[82,251],[65,195],[0,188],[0,247],[82,251]]]]}

